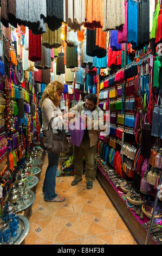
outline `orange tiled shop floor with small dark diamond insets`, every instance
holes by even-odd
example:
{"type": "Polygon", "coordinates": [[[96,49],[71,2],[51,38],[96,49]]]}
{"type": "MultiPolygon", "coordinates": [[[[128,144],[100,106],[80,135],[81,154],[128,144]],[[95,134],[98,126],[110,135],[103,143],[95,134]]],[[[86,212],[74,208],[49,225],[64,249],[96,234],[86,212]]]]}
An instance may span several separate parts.
{"type": "Polygon", "coordinates": [[[29,219],[26,245],[137,245],[97,180],[92,190],[87,190],[84,181],[75,187],[70,185],[74,176],[57,177],[56,193],[66,200],[44,202],[42,184],[47,164],[46,156],[29,219]]]}

